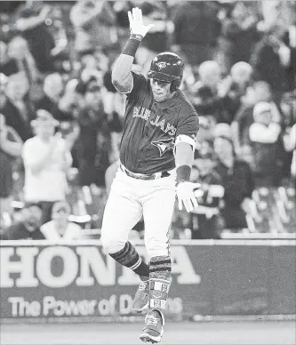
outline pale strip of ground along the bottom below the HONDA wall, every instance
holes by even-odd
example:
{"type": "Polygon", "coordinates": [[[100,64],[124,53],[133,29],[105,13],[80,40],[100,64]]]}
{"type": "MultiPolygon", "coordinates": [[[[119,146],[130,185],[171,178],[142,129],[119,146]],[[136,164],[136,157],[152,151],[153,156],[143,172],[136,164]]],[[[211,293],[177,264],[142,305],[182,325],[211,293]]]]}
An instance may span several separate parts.
{"type": "MultiPolygon", "coordinates": [[[[1,345],[140,345],[142,324],[1,325],[1,345]]],[[[170,323],[162,345],[295,345],[294,321],[170,323]]]]}

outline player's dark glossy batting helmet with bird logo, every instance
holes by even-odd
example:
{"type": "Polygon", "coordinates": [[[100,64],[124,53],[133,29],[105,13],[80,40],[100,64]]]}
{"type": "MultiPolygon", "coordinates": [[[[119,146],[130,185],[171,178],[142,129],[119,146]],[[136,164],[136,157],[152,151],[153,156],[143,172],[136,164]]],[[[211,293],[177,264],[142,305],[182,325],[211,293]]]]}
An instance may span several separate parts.
{"type": "Polygon", "coordinates": [[[148,78],[164,82],[172,82],[172,91],[180,86],[183,76],[184,62],[174,52],[161,52],[152,60],[148,70],[148,78]]]}

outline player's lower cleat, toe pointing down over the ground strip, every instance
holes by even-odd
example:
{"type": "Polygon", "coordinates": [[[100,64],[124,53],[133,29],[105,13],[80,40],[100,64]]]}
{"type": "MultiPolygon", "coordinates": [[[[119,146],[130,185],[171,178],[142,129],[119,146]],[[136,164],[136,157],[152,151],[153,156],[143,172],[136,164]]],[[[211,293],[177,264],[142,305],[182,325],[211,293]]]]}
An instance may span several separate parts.
{"type": "Polygon", "coordinates": [[[145,317],[145,326],[140,334],[143,342],[157,343],[161,341],[164,334],[164,316],[157,309],[151,309],[145,317]]]}

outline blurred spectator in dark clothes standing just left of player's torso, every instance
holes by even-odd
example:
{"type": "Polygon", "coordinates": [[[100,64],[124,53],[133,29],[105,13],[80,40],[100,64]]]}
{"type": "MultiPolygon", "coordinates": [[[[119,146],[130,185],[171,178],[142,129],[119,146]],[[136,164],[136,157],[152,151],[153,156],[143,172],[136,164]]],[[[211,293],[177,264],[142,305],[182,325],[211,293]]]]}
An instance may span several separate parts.
{"type": "MultiPolygon", "coordinates": [[[[78,86],[77,86],[78,87],[78,86]]],[[[79,183],[81,186],[105,184],[105,172],[109,166],[110,132],[101,88],[95,79],[79,85],[84,92],[85,106],[78,116],[79,183]]]]}

